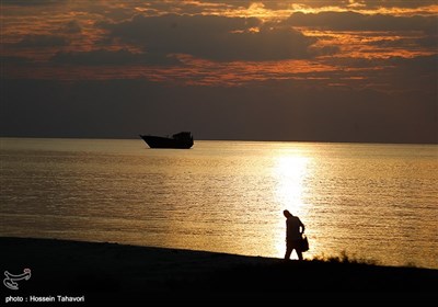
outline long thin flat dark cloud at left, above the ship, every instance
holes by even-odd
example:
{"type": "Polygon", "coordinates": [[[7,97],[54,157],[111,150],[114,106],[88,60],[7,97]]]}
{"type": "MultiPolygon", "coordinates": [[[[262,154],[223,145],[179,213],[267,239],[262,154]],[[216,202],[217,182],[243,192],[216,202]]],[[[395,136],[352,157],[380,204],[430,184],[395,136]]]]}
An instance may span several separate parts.
{"type": "Polygon", "coordinates": [[[175,57],[161,54],[135,54],[126,49],[92,50],[92,52],[70,52],[57,53],[51,59],[54,64],[85,65],[85,66],[117,66],[117,65],[178,65],[175,57]]]}

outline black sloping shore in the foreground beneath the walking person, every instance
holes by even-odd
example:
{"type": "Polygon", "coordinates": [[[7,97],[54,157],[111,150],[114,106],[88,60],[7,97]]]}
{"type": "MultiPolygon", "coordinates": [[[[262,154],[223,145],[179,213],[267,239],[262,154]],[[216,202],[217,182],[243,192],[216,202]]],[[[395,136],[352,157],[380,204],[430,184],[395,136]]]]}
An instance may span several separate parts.
{"type": "Polygon", "coordinates": [[[244,257],[204,251],[0,238],[0,306],[425,306],[438,302],[438,270],[351,261],[244,257]],[[5,278],[5,275],[2,275],[5,278]],[[84,302],[59,303],[66,299],[84,302]],[[41,303],[36,300],[55,300],[41,303]],[[7,302],[9,300],[9,302],[7,302]],[[23,302],[19,302],[23,300],[23,302]]]}

